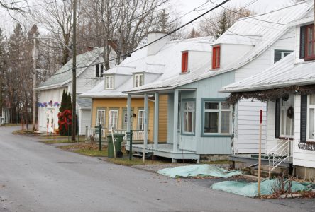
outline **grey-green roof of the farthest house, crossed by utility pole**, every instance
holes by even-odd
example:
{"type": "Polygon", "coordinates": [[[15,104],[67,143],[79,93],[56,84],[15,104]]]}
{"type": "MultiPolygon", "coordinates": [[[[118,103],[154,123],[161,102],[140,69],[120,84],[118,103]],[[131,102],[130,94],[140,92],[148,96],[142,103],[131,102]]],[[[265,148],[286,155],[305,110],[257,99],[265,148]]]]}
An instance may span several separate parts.
{"type": "MultiPolygon", "coordinates": [[[[85,52],[84,54],[77,55],[77,77],[83,73],[87,69],[87,66],[94,64],[97,58],[101,56],[104,52],[104,48],[94,49],[89,52],[85,52]],[[81,68],[80,68],[81,67],[81,68]]],[[[114,58],[114,55],[111,55],[114,58]]],[[[115,61],[111,62],[111,65],[114,66],[115,61]]],[[[54,75],[48,78],[47,81],[40,83],[40,85],[36,88],[36,90],[45,90],[50,88],[58,88],[64,86],[66,83],[72,81],[72,59],[67,61],[67,64],[61,67],[54,75]]]]}

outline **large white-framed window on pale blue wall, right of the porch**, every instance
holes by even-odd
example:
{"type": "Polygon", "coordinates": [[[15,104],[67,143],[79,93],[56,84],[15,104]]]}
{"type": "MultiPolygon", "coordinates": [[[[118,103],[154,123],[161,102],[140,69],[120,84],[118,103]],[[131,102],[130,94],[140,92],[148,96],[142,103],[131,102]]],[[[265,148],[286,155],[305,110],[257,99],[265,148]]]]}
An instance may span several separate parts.
{"type": "Polygon", "coordinates": [[[203,131],[204,135],[231,134],[231,107],[227,102],[203,102],[203,131]]]}

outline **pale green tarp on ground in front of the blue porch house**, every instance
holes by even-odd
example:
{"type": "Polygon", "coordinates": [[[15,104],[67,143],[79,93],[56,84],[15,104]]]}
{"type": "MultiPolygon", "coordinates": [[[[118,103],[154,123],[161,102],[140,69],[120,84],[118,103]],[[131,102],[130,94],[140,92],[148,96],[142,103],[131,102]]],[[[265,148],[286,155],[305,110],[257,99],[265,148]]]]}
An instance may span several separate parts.
{"type": "Polygon", "coordinates": [[[166,175],[168,177],[233,177],[235,175],[241,175],[242,172],[233,170],[227,171],[223,168],[216,167],[214,165],[185,165],[174,168],[165,168],[157,171],[160,175],[166,175]]]}

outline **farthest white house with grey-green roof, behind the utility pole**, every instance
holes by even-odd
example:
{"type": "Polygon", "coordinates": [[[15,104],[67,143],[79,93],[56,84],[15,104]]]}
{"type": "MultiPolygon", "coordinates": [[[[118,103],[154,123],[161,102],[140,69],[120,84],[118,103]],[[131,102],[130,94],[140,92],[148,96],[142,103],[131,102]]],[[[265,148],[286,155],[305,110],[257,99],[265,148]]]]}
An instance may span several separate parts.
{"type": "MultiPolygon", "coordinates": [[[[94,49],[84,54],[77,55],[77,95],[93,88],[104,73],[103,48],[94,49]]],[[[112,58],[114,58],[114,53],[112,58]]],[[[115,61],[111,61],[111,66],[115,61]]],[[[52,133],[58,128],[57,114],[62,98],[63,90],[72,92],[72,59],[62,66],[47,81],[37,88],[38,98],[38,130],[52,133]]],[[[89,126],[87,120],[91,110],[91,104],[87,100],[77,98],[77,115],[79,134],[85,134],[85,126],[89,126]]]]}

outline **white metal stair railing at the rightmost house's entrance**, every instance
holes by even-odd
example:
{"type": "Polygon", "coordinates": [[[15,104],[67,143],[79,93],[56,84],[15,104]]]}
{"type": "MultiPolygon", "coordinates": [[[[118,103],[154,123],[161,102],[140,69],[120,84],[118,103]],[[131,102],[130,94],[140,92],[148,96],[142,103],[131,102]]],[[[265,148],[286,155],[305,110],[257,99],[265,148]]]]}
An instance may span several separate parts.
{"type": "Polygon", "coordinates": [[[269,160],[269,177],[281,163],[289,161],[292,151],[292,140],[278,140],[277,145],[267,152],[269,160]]]}

